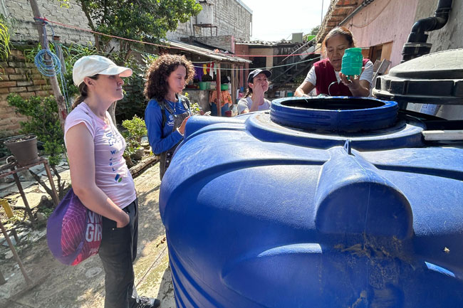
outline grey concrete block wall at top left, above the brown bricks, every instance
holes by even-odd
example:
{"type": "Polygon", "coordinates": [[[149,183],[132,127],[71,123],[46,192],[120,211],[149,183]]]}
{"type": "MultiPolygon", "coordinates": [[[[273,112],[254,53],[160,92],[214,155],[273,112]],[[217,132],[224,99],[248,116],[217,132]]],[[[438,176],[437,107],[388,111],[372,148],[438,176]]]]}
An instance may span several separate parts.
{"type": "MultiPolygon", "coordinates": [[[[38,32],[33,21],[31,4],[28,0],[0,0],[6,16],[15,19],[11,41],[13,42],[38,42],[38,32]]],[[[82,11],[78,1],[68,1],[69,8],[61,7],[58,0],[36,0],[38,9],[43,17],[50,21],[66,23],[78,28],[90,30],[88,19],[82,11]]],[[[4,15],[5,15],[4,14],[4,15]]],[[[61,37],[61,43],[79,43],[86,45],[89,41],[94,42],[93,34],[73,28],[66,28],[51,23],[56,36],[61,37]]],[[[47,35],[51,37],[51,28],[46,27],[47,35]]]]}

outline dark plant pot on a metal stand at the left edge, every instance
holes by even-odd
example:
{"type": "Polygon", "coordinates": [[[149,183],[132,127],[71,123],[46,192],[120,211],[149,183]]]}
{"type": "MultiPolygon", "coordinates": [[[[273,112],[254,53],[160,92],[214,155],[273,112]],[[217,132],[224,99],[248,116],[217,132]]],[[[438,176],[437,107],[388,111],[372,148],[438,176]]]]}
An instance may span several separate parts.
{"type": "Polygon", "coordinates": [[[38,161],[37,137],[34,134],[12,137],[5,142],[19,166],[27,166],[38,161]]]}

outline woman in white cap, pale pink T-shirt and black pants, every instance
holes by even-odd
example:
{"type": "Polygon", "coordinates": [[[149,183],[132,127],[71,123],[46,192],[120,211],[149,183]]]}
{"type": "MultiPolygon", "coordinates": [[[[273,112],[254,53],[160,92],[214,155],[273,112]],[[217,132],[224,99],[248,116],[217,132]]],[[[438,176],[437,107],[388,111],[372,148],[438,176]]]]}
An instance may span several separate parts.
{"type": "Polygon", "coordinates": [[[157,299],[137,297],[133,285],[137,195],[123,159],[125,140],[108,113],[110,105],[124,96],[121,77],[130,75],[130,68],[99,55],[77,60],[73,80],[80,97],[66,118],[64,131],[74,193],[103,217],[99,255],[105,269],[105,308],[160,305],[157,299]]]}

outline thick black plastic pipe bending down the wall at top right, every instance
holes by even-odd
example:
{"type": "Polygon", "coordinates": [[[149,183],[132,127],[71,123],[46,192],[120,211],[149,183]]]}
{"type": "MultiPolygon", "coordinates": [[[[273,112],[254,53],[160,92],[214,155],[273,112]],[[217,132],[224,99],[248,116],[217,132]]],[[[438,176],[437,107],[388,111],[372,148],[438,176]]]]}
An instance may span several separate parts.
{"type": "Polygon", "coordinates": [[[435,31],[447,23],[452,10],[452,0],[439,0],[434,17],[422,18],[412,26],[407,43],[402,50],[402,62],[430,53],[432,44],[427,43],[425,32],[435,31]]]}

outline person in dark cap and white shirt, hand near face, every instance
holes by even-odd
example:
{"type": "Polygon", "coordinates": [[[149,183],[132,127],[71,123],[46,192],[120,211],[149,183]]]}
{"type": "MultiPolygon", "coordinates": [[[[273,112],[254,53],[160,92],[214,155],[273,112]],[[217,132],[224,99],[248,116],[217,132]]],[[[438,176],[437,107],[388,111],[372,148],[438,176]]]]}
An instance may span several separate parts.
{"type": "Polygon", "coordinates": [[[253,70],[248,75],[248,90],[244,98],[238,102],[238,114],[269,110],[270,101],[264,98],[264,93],[269,90],[270,70],[253,70]]]}

